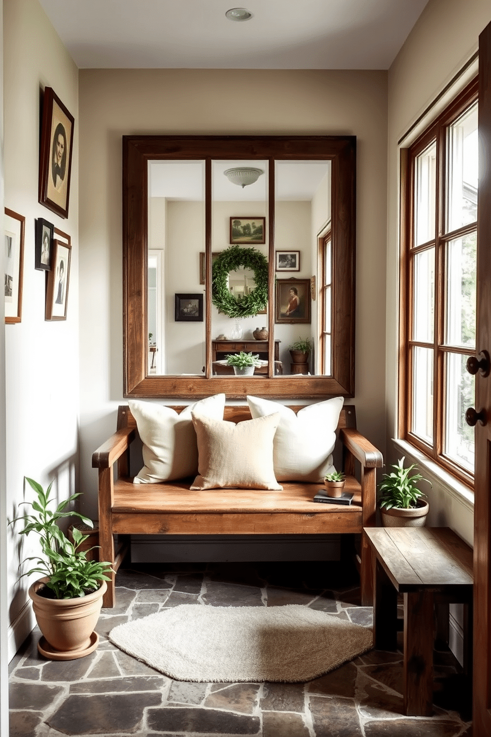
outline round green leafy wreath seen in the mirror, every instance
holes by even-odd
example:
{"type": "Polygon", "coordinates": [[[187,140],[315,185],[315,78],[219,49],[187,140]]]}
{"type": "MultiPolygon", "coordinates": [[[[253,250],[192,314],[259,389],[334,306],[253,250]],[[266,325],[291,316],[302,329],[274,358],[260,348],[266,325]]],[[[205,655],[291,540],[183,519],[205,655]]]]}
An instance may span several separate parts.
{"type": "Polygon", "coordinates": [[[266,309],[268,302],[268,262],[266,256],[255,248],[239,248],[231,245],[213,262],[211,301],[230,318],[249,318],[266,309]],[[240,266],[254,272],[255,288],[244,297],[236,299],[228,288],[228,273],[240,266]]]}

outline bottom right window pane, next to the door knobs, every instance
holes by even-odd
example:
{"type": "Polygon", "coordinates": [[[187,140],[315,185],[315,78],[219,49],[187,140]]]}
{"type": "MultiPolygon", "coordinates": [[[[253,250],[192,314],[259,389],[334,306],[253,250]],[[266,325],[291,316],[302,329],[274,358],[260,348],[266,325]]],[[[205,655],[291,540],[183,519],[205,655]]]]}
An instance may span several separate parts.
{"type": "Polygon", "coordinates": [[[465,411],[474,405],[474,377],[467,373],[467,356],[448,354],[446,361],[445,455],[474,472],[474,428],[465,411]]]}

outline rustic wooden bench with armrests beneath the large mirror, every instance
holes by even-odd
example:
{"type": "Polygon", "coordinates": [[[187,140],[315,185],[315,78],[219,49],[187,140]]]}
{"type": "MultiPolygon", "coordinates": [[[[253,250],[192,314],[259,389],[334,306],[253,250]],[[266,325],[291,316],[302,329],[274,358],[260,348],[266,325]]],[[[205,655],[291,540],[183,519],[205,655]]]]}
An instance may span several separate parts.
{"type": "MultiPolygon", "coordinates": [[[[180,413],[183,407],[173,407],[180,413]]],[[[299,411],[301,406],[294,406],[299,411]]],[[[251,419],[247,406],[225,407],[224,419],[251,419]]],[[[191,481],[133,485],[130,445],[138,436],[127,405],[119,407],[116,433],[92,456],[99,469],[100,557],[116,572],[123,557],[115,554],[114,536],[120,535],[261,535],[359,534],[361,600],[372,604],[372,555],[364,528],[375,525],[375,469],[383,465],[381,453],[356,430],[353,405],[345,405],[336,435],[342,444],[346,491],[353,492],[350,506],[314,503],[319,483],[282,483],[283,491],[220,489],[191,491],[191,481]],[[359,461],[359,481],[355,477],[359,461]],[[117,479],[114,464],[117,462],[117,479]]],[[[105,607],[114,606],[114,580],[107,582],[105,607]]]]}

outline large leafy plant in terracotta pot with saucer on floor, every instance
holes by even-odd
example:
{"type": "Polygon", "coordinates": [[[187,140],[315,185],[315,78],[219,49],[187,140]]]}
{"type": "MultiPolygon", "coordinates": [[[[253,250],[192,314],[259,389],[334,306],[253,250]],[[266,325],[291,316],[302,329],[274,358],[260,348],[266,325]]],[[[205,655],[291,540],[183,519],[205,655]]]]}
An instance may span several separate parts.
{"type": "Polygon", "coordinates": [[[37,499],[23,502],[31,507],[31,513],[16,517],[10,524],[21,521],[24,528],[19,534],[27,537],[35,532],[39,536],[42,555],[27,558],[26,561],[35,561],[37,565],[22,574],[44,574],[29,587],[32,608],[43,634],[38,650],[51,660],[74,660],[93,652],[99,643],[94,627],[99,619],[102,595],[109,580],[106,574],[111,565],[88,560],[88,551],[78,549],[88,536],[74,527],[72,543],[57,524],[63,517],[75,516],[93,527],[92,520],[82,514],[64,511],[80,494],[71,495],[53,510],[52,483],[45,492],[32,478],[26,477],[26,481],[36,492],[37,499]]]}

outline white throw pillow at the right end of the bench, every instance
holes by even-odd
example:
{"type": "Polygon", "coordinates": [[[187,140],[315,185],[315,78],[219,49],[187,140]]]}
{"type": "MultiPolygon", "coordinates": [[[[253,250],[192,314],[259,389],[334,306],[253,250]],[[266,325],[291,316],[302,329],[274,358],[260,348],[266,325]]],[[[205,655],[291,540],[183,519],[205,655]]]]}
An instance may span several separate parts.
{"type": "Polygon", "coordinates": [[[280,413],[280,424],[273,441],[278,481],[317,483],[334,470],[331,454],[336,442],[342,397],[308,405],[298,413],[278,402],[259,397],[247,397],[247,404],[252,417],[280,413]]]}

